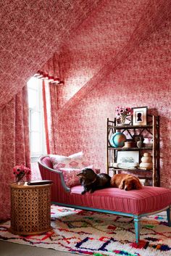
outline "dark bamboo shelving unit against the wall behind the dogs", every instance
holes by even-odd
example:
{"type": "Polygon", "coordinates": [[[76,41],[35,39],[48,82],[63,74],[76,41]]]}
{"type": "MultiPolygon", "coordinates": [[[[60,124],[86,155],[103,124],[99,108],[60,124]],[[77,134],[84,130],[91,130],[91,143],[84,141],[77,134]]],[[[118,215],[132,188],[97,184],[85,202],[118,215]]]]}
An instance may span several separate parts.
{"type": "Polygon", "coordinates": [[[136,175],[138,173],[139,178],[145,178],[151,186],[159,186],[159,116],[148,115],[147,120],[147,125],[132,125],[131,121],[128,125],[117,125],[116,118],[114,120],[107,118],[107,173],[109,170],[112,170],[114,174],[126,170],[129,173],[136,173],[136,175]],[[110,144],[110,138],[117,131],[124,133],[128,141],[133,140],[134,136],[143,136],[153,139],[153,144],[141,148],[136,146],[114,147],[110,144]],[[118,151],[138,151],[140,160],[144,152],[151,152],[153,168],[151,170],[114,168],[113,164],[117,162],[118,151]]]}

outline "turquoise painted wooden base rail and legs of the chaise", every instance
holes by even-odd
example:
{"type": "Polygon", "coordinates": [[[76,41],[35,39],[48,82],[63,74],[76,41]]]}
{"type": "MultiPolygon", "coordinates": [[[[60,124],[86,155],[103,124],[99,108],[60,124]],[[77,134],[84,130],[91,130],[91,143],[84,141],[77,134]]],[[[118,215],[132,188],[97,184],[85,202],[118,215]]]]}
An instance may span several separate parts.
{"type": "Polygon", "coordinates": [[[168,226],[171,227],[171,205],[168,206],[168,207],[165,207],[164,209],[159,210],[157,212],[149,212],[149,213],[143,213],[141,215],[135,215],[135,214],[131,214],[131,213],[114,212],[112,210],[96,209],[96,208],[84,207],[84,206],[78,206],[78,205],[66,205],[66,204],[57,203],[57,202],[52,202],[52,204],[59,205],[59,206],[64,206],[64,207],[75,208],[75,209],[80,209],[80,210],[89,210],[89,211],[92,211],[92,212],[102,212],[102,213],[110,213],[110,214],[114,214],[114,215],[132,217],[133,220],[134,220],[135,241],[136,241],[137,244],[138,244],[139,239],[140,239],[140,219],[141,219],[141,217],[145,217],[147,215],[154,215],[158,212],[163,212],[164,210],[167,210],[168,226]]]}

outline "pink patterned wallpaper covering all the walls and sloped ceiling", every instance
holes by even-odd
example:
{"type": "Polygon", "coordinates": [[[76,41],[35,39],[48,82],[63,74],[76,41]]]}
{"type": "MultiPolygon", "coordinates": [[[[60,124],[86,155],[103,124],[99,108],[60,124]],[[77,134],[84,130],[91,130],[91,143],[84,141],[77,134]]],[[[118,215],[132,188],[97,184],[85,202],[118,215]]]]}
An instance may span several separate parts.
{"type": "MultiPolygon", "coordinates": [[[[57,51],[59,152],[83,150],[104,170],[107,117],[117,105],[147,105],[161,116],[170,186],[170,12],[170,0],[2,0],[0,108],[57,51]]],[[[0,141],[3,126],[0,110],[0,141]]]]}

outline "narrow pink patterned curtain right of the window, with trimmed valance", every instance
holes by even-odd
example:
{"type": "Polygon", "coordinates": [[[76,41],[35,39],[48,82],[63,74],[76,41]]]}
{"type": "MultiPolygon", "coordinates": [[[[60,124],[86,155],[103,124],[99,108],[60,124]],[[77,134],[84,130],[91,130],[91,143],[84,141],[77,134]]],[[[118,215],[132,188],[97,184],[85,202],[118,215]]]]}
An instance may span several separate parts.
{"type": "Polygon", "coordinates": [[[55,53],[35,75],[43,80],[43,112],[48,154],[57,154],[57,85],[64,83],[62,74],[61,56],[55,53]]]}

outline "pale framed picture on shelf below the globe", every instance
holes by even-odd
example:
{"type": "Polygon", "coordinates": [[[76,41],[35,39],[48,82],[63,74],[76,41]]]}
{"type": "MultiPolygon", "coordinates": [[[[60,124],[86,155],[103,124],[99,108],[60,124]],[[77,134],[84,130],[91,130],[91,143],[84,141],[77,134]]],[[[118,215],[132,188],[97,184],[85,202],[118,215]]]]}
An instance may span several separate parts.
{"type": "Polygon", "coordinates": [[[117,151],[117,163],[139,162],[139,151],[117,151]]]}

